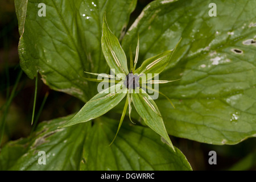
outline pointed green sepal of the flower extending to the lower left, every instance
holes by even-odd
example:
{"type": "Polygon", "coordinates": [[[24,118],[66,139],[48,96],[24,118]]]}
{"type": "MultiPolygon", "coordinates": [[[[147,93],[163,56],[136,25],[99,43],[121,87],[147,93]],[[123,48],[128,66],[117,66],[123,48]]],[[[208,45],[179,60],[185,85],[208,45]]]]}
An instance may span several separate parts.
{"type": "Polygon", "coordinates": [[[119,84],[113,85],[91,98],[75,115],[75,117],[73,117],[70,121],[68,121],[61,127],[67,127],[71,125],[76,125],[78,123],[90,121],[91,119],[100,117],[101,115],[107,113],[113,107],[118,105],[118,103],[122,101],[123,97],[126,96],[126,93],[118,93],[121,92],[121,90],[114,90],[115,86],[119,88],[119,84]],[[108,93],[104,93],[106,90],[108,90],[108,93]],[[112,92],[112,90],[114,91],[112,92]]]}

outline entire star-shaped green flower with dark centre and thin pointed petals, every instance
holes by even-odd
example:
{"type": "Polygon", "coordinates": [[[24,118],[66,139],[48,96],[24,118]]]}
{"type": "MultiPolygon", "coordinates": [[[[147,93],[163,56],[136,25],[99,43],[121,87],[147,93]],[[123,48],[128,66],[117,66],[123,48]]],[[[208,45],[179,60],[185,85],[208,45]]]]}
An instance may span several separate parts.
{"type": "MultiPolygon", "coordinates": [[[[109,110],[113,109],[113,107],[118,105],[119,102],[121,102],[123,98],[126,97],[125,106],[123,107],[121,119],[115,137],[117,137],[123,119],[125,118],[127,107],[129,107],[129,118],[131,121],[131,102],[133,102],[135,109],[143,119],[144,123],[146,123],[148,127],[162,136],[166,140],[167,144],[174,150],[174,146],[172,145],[172,142],[168,137],[166,127],[164,126],[162,115],[160,114],[154,99],[158,97],[158,94],[162,94],[172,104],[170,98],[159,92],[158,84],[165,84],[176,80],[158,80],[158,75],[170,62],[172,54],[174,53],[177,46],[173,50],[165,51],[159,55],[144,60],[141,67],[136,69],[139,55],[138,36],[134,61],[133,54],[130,49],[129,72],[125,52],[119,44],[118,39],[110,31],[106,22],[106,16],[104,15],[102,24],[101,47],[106,62],[111,69],[111,73],[110,75],[107,75],[105,73],[98,74],[85,72],[90,75],[98,76],[98,78],[85,78],[89,81],[100,82],[98,85],[98,94],[86,102],[86,104],[75,115],[75,117],[73,117],[70,121],[61,127],[67,127],[77,123],[87,122],[91,119],[100,117],[101,115],[107,113],[109,110]],[[104,78],[104,80],[102,80],[102,78],[104,78]],[[102,86],[104,86],[104,89],[101,89],[102,86]],[[154,95],[151,95],[150,93],[154,93],[154,95]]],[[[174,105],[172,104],[172,106],[174,105]]],[[[114,139],[112,143],[114,142],[114,139]]]]}

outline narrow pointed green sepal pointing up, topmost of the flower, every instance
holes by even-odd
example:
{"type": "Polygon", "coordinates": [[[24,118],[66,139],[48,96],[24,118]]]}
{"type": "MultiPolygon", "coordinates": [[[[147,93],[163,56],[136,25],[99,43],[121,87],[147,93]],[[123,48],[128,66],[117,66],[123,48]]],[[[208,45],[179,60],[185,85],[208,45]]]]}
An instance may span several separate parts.
{"type": "Polygon", "coordinates": [[[101,47],[110,69],[115,69],[115,74],[125,73],[127,75],[129,71],[125,52],[118,39],[110,31],[106,22],[106,15],[104,15],[102,24],[101,47]]]}

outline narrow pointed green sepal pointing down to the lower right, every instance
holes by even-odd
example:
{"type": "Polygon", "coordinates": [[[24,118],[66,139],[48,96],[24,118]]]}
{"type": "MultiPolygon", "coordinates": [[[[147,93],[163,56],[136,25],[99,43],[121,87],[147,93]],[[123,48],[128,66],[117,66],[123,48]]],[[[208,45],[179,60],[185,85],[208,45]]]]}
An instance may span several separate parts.
{"type": "Polygon", "coordinates": [[[148,100],[148,97],[149,96],[146,93],[131,94],[134,107],[146,125],[161,135],[174,150],[174,146],[172,145],[166,127],[164,126],[163,118],[159,113],[158,106],[156,106],[153,100],[148,100]]]}

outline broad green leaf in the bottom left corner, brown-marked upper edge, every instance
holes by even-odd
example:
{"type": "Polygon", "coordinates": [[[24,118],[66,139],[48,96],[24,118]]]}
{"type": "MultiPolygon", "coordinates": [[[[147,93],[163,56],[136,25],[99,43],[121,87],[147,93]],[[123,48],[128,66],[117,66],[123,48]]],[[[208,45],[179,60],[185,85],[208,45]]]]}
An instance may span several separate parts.
{"type": "Polygon", "coordinates": [[[29,138],[16,140],[1,149],[1,170],[78,170],[86,125],[57,129],[73,115],[40,123],[29,138]],[[39,165],[39,151],[46,152],[46,165],[39,165]]]}

